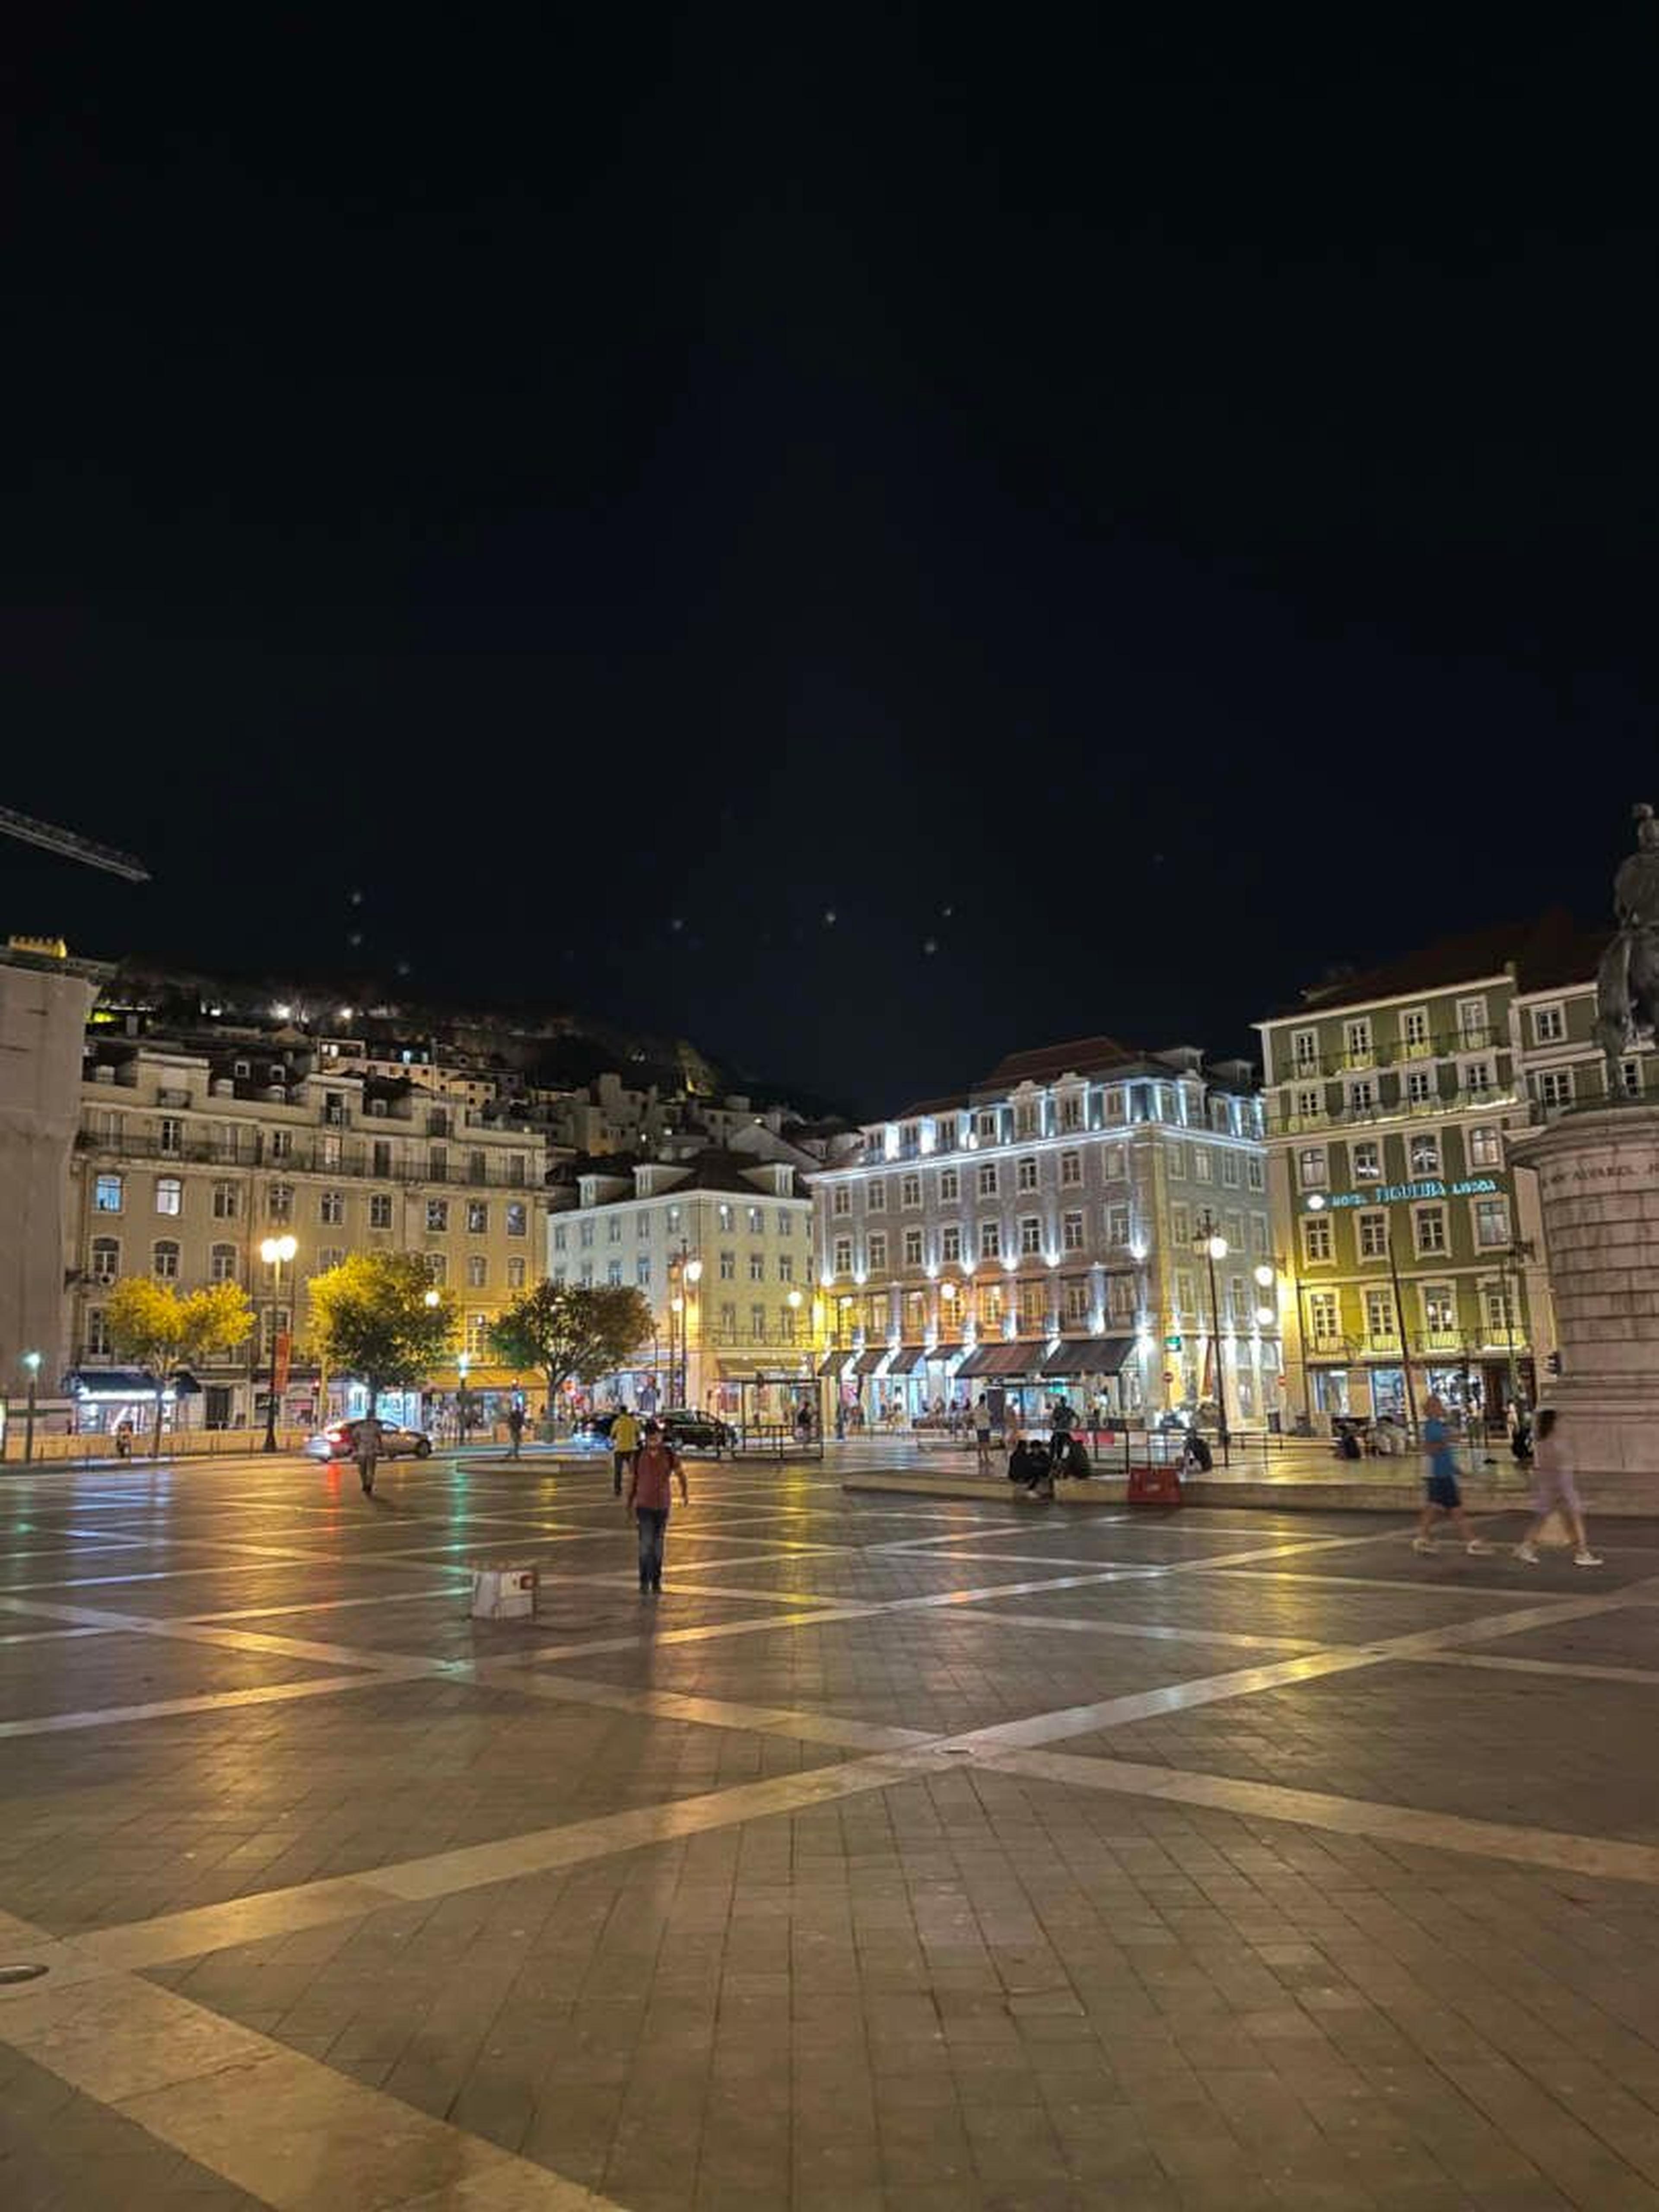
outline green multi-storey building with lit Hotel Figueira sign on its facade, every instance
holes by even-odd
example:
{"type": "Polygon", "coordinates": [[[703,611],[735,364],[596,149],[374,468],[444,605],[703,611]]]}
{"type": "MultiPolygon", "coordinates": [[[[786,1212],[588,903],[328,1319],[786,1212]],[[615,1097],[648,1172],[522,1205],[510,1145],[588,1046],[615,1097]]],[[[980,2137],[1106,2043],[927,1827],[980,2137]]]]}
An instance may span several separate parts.
{"type": "MultiPolygon", "coordinates": [[[[1595,962],[1571,916],[1449,938],[1259,1022],[1285,1394],[1411,1418],[1438,1391],[1498,1429],[1555,1354],[1524,1128],[1606,1097],[1595,962]]],[[[1655,1086],[1644,1048],[1621,1086],[1655,1086]]],[[[1323,1416],[1323,1420],[1321,1420],[1323,1416]]]]}

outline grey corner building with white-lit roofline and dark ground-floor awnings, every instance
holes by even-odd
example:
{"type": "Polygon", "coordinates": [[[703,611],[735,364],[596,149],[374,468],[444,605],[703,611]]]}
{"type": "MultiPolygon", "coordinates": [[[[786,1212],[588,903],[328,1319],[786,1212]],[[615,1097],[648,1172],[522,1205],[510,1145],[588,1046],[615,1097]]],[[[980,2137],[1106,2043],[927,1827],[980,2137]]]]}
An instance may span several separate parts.
{"type": "Polygon", "coordinates": [[[872,1121],[812,1177],[843,1425],[931,1422],[1002,1391],[1119,1418],[1214,1400],[1208,1239],[1232,1427],[1279,1407],[1279,1305],[1245,1062],[1082,1037],[872,1121]]]}

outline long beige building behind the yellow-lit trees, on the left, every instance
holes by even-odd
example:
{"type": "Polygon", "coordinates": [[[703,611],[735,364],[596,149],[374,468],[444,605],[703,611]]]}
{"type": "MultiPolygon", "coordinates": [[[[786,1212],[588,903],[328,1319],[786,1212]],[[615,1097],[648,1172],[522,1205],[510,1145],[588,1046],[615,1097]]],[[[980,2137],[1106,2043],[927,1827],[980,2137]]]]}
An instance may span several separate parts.
{"type": "MultiPolygon", "coordinates": [[[[181,1416],[190,1425],[263,1420],[272,1347],[290,1327],[283,1422],[356,1411],[349,1380],[319,1376],[307,1358],[305,1281],[374,1250],[420,1252],[460,1298],[462,1343],[427,1380],[427,1418],[462,1380],[489,1411],[491,1394],[518,1376],[493,1365],[487,1329],[540,1276],[544,1179],[538,1133],[487,1121],[409,1077],[336,1073],[310,1044],[250,1035],[204,1048],[93,1031],[64,1267],[64,1365],[82,1422],[113,1425],[126,1387],[104,1314],[104,1292],[124,1274],[181,1290],[241,1283],[254,1303],[254,1336],[197,1376],[201,1402],[181,1416]],[[261,1259],[268,1237],[294,1237],[290,1265],[261,1259]]],[[[387,1411],[420,1418],[422,1394],[387,1411]]]]}

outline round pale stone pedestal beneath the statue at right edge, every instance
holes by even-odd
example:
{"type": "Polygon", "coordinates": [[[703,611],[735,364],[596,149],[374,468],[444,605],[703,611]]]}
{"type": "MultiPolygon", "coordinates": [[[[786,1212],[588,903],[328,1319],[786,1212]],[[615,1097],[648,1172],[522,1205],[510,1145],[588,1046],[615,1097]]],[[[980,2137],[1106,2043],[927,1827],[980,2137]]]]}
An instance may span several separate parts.
{"type": "Polygon", "coordinates": [[[1509,1159],[1537,1175],[1564,1458],[1590,1515],[1659,1511],[1659,1104],[1566,1113],[1509,1159]]]}

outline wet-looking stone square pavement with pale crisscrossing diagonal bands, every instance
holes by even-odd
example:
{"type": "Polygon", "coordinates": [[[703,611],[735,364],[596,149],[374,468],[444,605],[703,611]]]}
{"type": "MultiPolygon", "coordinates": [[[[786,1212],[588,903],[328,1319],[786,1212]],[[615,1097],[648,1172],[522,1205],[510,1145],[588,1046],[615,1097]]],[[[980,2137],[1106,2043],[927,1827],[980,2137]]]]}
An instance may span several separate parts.
{"type": "Polygon", "coordinates": [[[690,1480],[0,1473],[7,2212],[1659,2212],[1659,1526],[690,1480]]]}

